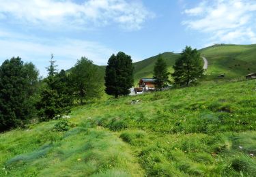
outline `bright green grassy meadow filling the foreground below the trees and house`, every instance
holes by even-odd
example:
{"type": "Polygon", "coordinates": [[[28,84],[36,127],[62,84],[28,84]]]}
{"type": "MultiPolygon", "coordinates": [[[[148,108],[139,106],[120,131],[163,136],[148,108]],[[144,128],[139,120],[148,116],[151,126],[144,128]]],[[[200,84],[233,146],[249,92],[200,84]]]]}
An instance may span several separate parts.
{"type": "Polygon", "coordinates": [[[68,131],[1,133],[0,176],[255,176],[255,94],[249,80],[80,106],[68,131]]]}

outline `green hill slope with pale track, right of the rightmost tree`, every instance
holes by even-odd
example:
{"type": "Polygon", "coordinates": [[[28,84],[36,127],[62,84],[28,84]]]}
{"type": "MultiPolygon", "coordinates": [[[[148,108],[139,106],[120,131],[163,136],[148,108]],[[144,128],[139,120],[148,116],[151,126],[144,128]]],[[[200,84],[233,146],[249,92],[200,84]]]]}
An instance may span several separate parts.
{"type": "Polygon", "coordinates": [[[244,78],[256,72],[256,44],[219,45],[200,50],[208,59],[208,79],[225,74],[227,80],[244,78]]]}

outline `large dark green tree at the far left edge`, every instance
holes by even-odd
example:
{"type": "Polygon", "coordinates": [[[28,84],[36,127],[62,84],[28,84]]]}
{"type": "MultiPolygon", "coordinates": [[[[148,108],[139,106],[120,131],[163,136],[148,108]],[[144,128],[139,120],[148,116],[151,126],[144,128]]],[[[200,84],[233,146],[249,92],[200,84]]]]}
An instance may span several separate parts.
{"type": "Polygon", "coordinates": [[[20,57],[5,60],[0,67],[0,131],[24,125],[33,116],[31,97],[38,70],[20,57]]]}

